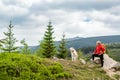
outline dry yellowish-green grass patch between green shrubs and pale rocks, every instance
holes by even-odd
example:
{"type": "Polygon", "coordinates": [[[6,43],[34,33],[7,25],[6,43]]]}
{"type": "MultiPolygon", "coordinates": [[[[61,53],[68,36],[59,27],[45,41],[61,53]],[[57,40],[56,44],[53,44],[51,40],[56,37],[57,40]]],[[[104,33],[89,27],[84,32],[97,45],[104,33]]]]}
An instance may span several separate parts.
{"type": "Polygon", "coordinates": [[[81,62],[70,60],[59,60],[64,67],[64,70],[73,75],[71,80],[111,80],[106,73],[93,63],[87,63],[83,65],[81,62]]]}

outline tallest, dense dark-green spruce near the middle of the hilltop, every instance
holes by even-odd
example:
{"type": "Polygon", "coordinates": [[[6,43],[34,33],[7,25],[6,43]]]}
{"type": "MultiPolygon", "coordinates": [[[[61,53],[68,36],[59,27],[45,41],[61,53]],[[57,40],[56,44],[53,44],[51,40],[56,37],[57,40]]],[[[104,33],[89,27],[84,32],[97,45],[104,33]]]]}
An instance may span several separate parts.
{"type": "Polygon", "coordinates": [[[51,22],[49,22],[47,26],[47,30],[45,31],[44,34],[44,43],[42,43],[42,55],[46,58],[51,58],[55,55],[56,53],[56,46],[54,44],[54,37],[53,37],[53,27],[51,25],[51,22]]]}

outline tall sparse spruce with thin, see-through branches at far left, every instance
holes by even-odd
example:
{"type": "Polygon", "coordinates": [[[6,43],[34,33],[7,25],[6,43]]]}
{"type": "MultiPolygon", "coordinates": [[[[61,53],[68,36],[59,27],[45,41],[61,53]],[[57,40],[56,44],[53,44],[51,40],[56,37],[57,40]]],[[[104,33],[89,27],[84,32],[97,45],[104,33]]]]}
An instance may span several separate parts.
{"type": "Polygon", "coordinates": [[[4,32],[4,35],[6,36],[6,38],[3,41],[3,46],[1,47],[1,49],[4,52],[16,52],[17,48],[15,46],[15,43],[17,42],[16,38],[14,38],[14,33],[12,32],[14,26],[12,26],[12,22],[10,21],[10,24],[8,26],[8,32],[4,32]]]}

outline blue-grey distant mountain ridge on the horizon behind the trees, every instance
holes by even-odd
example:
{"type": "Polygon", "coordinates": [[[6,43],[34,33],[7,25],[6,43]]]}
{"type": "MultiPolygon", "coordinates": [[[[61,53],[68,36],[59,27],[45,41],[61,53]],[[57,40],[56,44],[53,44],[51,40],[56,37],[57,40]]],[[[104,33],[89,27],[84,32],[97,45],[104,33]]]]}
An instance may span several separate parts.
{"type": "MultiPolygon", "coordinates": [[[[120,43],[120,35],[114,35],[114,36],[99,36],[99,37],[88,37],[88,38],[82,38],[82,37],[74,37],[69,38],[67,40],[67,47],[74,47],[75,49],[82,48],[82,47],[89,47],[89,46],[95,46],[96,41],[100,40],[102,43],[120,43]]],[[[59,41],[55,42],[56,46],[59,45],[59,41]]],[[[30,49],[32,52],[34,52],[39,46],[31,46],[30,49]]]]}

